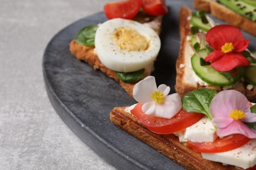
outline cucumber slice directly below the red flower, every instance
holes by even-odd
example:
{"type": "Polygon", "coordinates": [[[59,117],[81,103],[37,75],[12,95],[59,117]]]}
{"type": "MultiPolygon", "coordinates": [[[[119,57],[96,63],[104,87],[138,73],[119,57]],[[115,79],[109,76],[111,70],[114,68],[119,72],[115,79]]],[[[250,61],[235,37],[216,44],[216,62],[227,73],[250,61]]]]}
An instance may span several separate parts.
{"type": "MultiPolygon", "coordinates": [[[[198,54],[205,58],[207,56],[207,51],[205,49],[199,50],[198,54]]],[[[196,54],[192,56],[191,64],[196,75],[208,84],[212,84],[214,86],[230,86],[231,84],[234,84],[234,82],[221,75],[219,71],[213,69],[211,65],[201,66],[200,58],[196,56],[196,54]]]]}

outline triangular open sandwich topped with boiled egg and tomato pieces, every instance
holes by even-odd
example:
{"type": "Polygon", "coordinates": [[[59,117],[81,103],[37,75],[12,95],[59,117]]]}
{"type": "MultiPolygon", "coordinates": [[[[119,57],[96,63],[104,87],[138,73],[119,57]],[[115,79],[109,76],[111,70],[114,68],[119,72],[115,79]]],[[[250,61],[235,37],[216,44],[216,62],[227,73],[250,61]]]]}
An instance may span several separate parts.
{"type": "Polygon", "coordinates": [[[154,71],[160,51],[165,1],[125,0],[107,3],[109,20],[83,27],[70,42],[70,52],[114,78],[132,97],[133,86],[154,71]]]}

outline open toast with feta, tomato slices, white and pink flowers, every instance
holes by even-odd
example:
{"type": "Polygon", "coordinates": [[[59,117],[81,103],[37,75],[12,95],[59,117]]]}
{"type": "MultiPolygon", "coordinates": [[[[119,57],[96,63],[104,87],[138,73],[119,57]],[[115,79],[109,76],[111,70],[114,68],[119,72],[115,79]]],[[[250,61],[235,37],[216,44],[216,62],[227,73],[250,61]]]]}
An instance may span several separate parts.
{"type": "Polygon", "coordinates": [[[138,82],[138,102],[110,120],[186,169],[256,169],[256,105],[236,90],[168,95],[154,76],[138,82]]]}

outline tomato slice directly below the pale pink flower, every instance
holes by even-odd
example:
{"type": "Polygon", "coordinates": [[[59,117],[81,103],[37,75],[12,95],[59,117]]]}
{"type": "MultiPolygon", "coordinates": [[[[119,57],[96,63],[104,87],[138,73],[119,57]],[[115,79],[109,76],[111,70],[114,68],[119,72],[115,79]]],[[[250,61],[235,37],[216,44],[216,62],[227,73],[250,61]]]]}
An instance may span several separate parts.
{"type": "Polygon", "coordinates": [[[250,139],[241,134],[228,135],[223,138],[217,138],[212,143],[194,143],[188,141],[186,144],[188,147],[192,148],[197,152],[204,153],[217,153],[217,152],[226,152],[239,148],[246,144],[250,139]]]}

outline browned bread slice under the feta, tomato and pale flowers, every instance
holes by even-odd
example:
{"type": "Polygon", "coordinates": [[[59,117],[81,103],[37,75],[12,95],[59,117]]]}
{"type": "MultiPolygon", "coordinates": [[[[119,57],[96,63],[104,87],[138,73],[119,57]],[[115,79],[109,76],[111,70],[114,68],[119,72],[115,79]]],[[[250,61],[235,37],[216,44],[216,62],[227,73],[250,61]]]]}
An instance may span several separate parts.
{"type": "Polygon", "coordinates": [[[133,137],[158,150],[186,169],[239,169],[232,165],[223,165],[223,163],[203,159],[199,152],[184,146],[173,134],[160,135],[149,131],[137,122],[133,114],[125,112],[125,107],[116,107],[111,110],[110,120],[133,137]]]}

